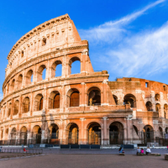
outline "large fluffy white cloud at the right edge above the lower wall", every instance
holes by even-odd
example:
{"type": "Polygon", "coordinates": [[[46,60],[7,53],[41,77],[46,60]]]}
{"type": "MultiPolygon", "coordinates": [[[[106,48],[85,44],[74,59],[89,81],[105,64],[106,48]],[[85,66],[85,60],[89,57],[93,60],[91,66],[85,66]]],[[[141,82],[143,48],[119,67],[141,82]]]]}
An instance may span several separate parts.
{"type": "Polygon", "coordinates": [[[139,33],[125,39],[119,48],[108,51],[101,61],[106,59],[109,71],[124,76],[158,73],[168,69],[167,39],[168,23],[153,32],[139,33]]]}

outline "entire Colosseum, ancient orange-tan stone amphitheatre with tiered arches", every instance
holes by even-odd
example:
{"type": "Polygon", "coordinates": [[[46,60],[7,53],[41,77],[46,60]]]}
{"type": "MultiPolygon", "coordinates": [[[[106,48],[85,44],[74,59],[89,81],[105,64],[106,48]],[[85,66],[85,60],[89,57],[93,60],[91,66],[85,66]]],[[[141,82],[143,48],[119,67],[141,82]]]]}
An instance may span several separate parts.
{"type": "Polygon", "coordinates": [[[167,85],[95,72],[67,14],[29,31],[7,59],[1,145],[167,143],[167,85]],[[72,74],[76,61],[80,73],[72,74]]]}

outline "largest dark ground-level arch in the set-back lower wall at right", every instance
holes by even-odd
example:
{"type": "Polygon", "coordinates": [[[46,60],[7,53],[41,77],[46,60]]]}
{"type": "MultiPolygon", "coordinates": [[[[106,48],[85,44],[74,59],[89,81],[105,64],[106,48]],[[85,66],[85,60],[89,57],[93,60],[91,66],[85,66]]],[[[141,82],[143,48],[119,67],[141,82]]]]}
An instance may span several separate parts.
{"type": "Polygon", "coordinates": [[[145,144],[147,144],[147,142],[153,142],[154,131],[151,125],[144,126],[143,133],[144,133],[144,143],[145,144]]]}

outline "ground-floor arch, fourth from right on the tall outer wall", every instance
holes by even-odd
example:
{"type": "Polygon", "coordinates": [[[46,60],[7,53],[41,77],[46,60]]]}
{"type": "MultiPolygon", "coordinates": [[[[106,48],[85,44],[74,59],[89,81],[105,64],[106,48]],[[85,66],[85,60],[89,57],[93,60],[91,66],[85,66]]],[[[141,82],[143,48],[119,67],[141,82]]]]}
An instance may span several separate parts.
{"type": "Polygon", "coordinates": [[[51,138],[51,142],[54,143],[56,142],[56,139],[59,139],[59,128],[58,125],[56,124],[51,124],[51,126],[49,127],[50,130],[50,138],[51,138]]]}

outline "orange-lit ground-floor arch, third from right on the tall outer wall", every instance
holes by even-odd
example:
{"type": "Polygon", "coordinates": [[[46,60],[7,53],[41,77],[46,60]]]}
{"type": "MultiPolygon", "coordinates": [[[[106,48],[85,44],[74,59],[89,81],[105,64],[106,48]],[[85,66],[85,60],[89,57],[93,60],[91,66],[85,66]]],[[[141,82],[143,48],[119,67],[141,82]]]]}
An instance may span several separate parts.
{"type": "Polygon", "coordinates": [[[68,126],[68,144],[78,144],[79,128],[75,123],[68,126]]]}

